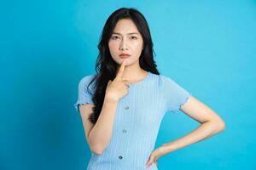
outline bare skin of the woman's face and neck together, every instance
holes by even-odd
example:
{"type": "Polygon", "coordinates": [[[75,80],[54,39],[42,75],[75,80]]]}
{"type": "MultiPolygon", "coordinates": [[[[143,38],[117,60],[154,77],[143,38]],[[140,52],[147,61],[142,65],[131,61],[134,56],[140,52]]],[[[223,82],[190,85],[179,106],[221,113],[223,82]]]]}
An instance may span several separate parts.
{"type": "Polygon", "coordinates": [[[132,20],[123,19],[117,22],[108,41],[108,48],[118,67],[126,60],[123,79],[134,83],[143,80],[147,76],[148,72],[144,71],[139,65],[139,57],[143,51],[143,37],[132,20]],[[122,59],[119,54],[123,53],[131,56],[122,59]]]}

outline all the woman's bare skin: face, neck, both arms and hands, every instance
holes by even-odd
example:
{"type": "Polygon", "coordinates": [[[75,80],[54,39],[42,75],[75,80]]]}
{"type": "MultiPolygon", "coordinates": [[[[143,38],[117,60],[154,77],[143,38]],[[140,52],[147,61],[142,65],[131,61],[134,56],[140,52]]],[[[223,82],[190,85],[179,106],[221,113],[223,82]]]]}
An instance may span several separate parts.
{"type": "MultiPolygon", "coordinates": [[[[119,99],[128,93],[128,82],[137,82],[147,75],[147,71],[143,71],[138,63],[143,49],[143,38],[137,31],[134,23],[126,19],[119,20],[113,32],[117,32],[119,35],[113,34],[113,36],[117,37],[111,37],[108,46],[113,60],[119,65],[119,69],[113,82],[108,82],[102,113],[94,127],[87,120],[88,113],[92,112],[94,105],[80,106],[86,139],[90,144],[90,149],[98,154],[102,154],[102,150],[106,148],[111,139],[116,106],[119,99]],[[137,34],[129,34],[131,32],[137,32],[137,34]],[[137,38],[134,39],[134,36],[137,38]],[[131,57],[120,59],[119,54],[122,53],[131,54],[131,57]],[[124,60],[125,62],[123,62],[124,60]],[[106,131],[106,129],[108,130],[106,131]]],[[[148,161],[145,162],[146,167],[150,167],[152,163],[157,165],[157,160],[161,156],[181,149],[189,144],[195,144],[203,139],[207,139],[225,129],[225,123],[220,116],[199,99],[196,99],[195,96],[190,96],[188,101],[181,106],[180,111],[183,111],[184,114],[196,122],[200,122],[201,125],[182,138],[162,144],[159,148],[153,150],[148,157],[148,161]]]]}

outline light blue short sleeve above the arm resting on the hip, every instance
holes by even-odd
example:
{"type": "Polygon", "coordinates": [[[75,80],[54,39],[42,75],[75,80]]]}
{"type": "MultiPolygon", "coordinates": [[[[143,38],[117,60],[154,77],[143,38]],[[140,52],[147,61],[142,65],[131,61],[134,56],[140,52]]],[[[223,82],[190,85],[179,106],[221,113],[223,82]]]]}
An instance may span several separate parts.
{"type": "Polygon", "coordinates": [[[190,94],[170,77],[163,78],[163,94],[166,101],[166,111],[177,112],[189,99],[190,94]]]}

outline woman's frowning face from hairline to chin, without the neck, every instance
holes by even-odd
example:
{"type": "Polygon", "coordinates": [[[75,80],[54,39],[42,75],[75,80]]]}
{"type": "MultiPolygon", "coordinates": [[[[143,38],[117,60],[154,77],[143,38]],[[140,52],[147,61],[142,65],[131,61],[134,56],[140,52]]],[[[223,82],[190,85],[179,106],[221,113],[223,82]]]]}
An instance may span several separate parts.
{"type": "Polygon", "coordinates": [[[108,41],[108,48],[113,60],[119,65],[126,59],[126,65],[138,63],[143,50],[143,37],[132,20],[119,20],[108,41]],[[122,58],[120,54],[130,54],[122,58]]]}

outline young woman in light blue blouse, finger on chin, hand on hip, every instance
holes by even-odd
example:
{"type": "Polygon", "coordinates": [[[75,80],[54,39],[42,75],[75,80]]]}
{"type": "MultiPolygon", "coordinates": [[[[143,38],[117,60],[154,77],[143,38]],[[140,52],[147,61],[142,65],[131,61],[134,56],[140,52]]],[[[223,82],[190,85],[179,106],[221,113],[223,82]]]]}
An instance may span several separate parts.
{"type": "Polygon", "coordinates": [[[137,9],[114,11],[98,48],[97,74],[80,80],[74,105],[91,150],[87,169],[155,170],[161,156],[224,130],[214,111],[160,75],[148,23],[137,9]],[[183,111],[201,126],[154,150],[166,111],[183,111]]]}

